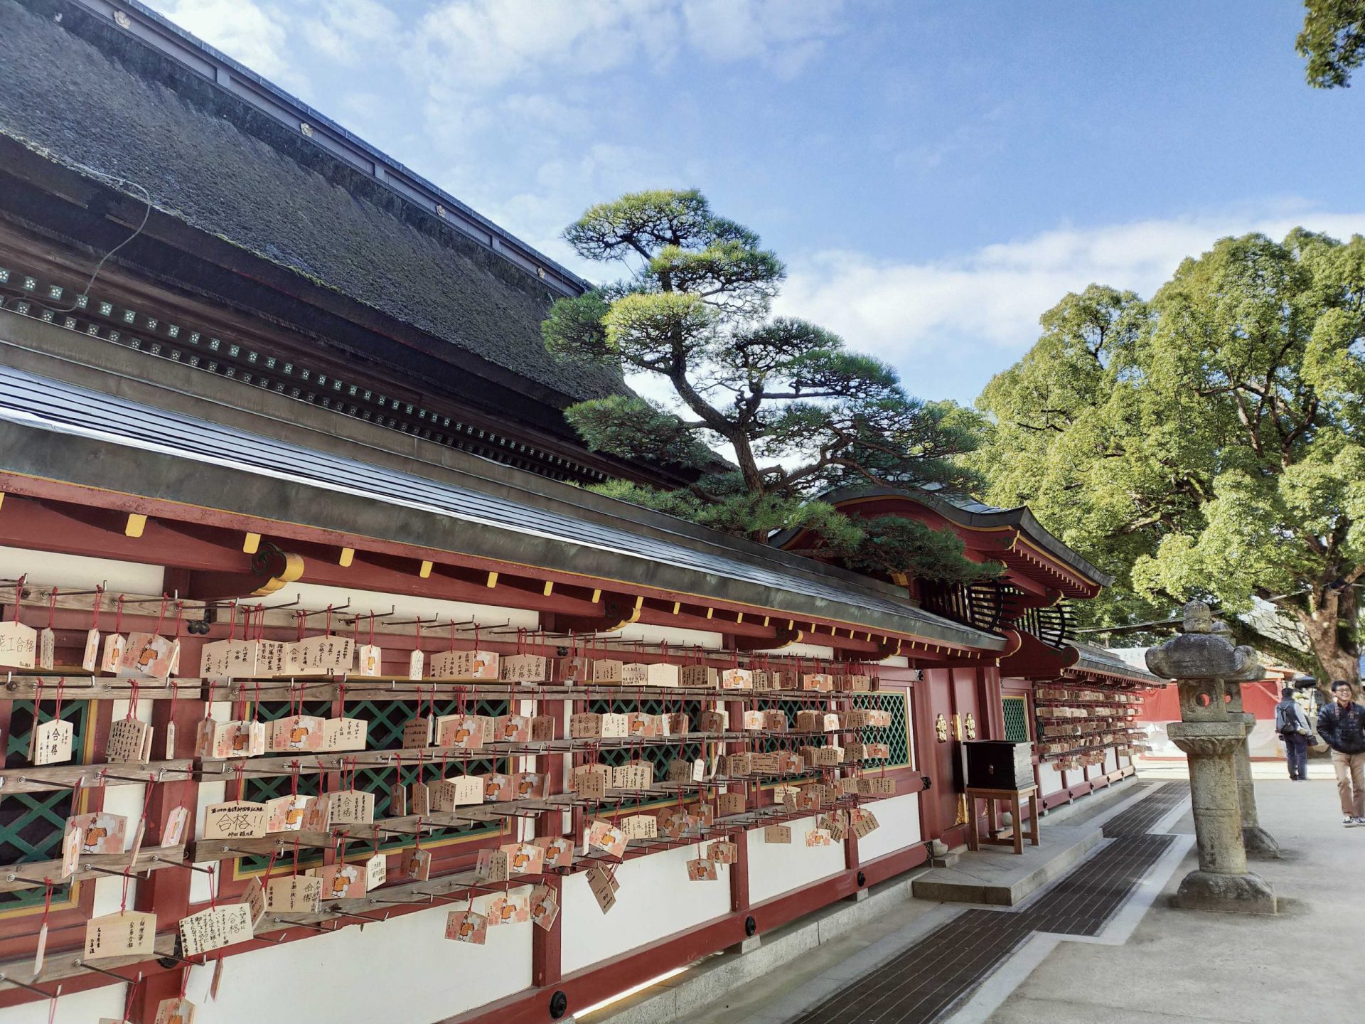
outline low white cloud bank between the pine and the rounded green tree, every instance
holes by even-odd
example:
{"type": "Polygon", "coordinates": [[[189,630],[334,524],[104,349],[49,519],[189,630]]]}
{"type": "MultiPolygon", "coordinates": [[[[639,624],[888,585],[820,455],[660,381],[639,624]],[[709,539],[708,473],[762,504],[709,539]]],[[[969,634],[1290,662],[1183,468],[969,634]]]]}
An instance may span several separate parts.
{"type": "MultiPolygon", "coordinates": [[[[1058,228],[984,246],[951,259],[894,262],[848,251],[792,262],[777,309],[837,330],[854,348],[898,366],[906,378],[942,360],[969,378],[969,399],[988,375],[1037,340],[1039,317],[1092,283],[1149,298],[1188,255],[1216,239],[1259,231],[1283,238],[1297,225],[1338,238],[1365,232],[1365,213],[1222,214],[1058,228]]],[[[925,392],[934,393],[934,392],[925,392]]]]}

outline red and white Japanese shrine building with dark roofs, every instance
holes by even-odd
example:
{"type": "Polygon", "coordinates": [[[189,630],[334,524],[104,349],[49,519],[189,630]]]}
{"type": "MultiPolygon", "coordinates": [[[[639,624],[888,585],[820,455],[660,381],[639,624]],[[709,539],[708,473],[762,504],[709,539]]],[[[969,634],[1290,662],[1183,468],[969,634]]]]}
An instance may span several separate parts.
{"type": "Polygon", "coordinates": [[[586,287],[141,4],[0,0],[0,606],[52,631],[57,666],[3,669],[0,973],[33,976],[44,926],[46,958],[30,987],[0,982],[0,1024],[33,1020],[59,984],[61,1013],[138,1024],[182,991],[195,1024],[550,1021],[897,877],[927,860],[930,840],[961,844],[964,740],[1036,741],[1046,807],[1133,774],[1127,739],[1040,732],[1048,709],[1097,700],[1077,687],[1126,695],[1160,680],[1072,640],[1067,602],[1107,580],[1026,509],[830,496],[853,515],[954,530],[973,558],[1006,567],[990,584],[943,587],[853,573],[781,549],[796,538],[758,545],[579,486],[676,482],[587,451],[562,416],[624,388],[603,370],[566,371],[542,345],[550,303],[586,287]],[[253,636],[345,635],[382,649],[382,672],[201,680],[202,644],[240,635],[248,609],[262,609],[253,636]],[[173,638],[182,681],[61,670],[81,665],[90,629],[173,638]],[[565,692],[553,676],[526,688],[425,680],[423,692],[407,679],[418,649],[861,681],[763,696],[565,692]],[[838,767],[662,788],[678,760],[792,752],[737,726],[747,710],[794,724],[811,709],[887,715],[842,729],[849,745],[886,748],[842,777],[894,784],[867,801],[878,827],[865,836],[764,837],[771,822],[796,837],[820,830],[819,811],[784,811],[779,786],[833,782],[838,767]],[[728,726],[703,735],[700,715],[719,710],[728,726]],[[415,715],[457,711],[550,717],[554,739],[472,759],[404,745],[415,715]],[[584,741],[569,736],[575,713],[685,714],[691,728],[584,741]],[[205,718],[299,714],[364,720],[364,750],[311,770],[195,751],[205,718]],[[56,715],[74,750],[37,767],[30,737],[56,715]],[[105,771],[111,725],[128,715],[150,724],[152,759],[105,771]],[[650,792],[565,795],[576,767],[632,758],[651,765],[650,792]],[[549,796],[437,823],[400,812],[394,788],[457,771],[532,773],[549,796]],[[308,845],[299,833],[203,837],[205,808],[221,801],[341,786],[373,795],[373,823],[308,845]],[[706,842],[736,847],[719,881],[688,881],[703,840],[637,838],[609,864],[620,883],[609,913],[580,870],[606,862],[584,855],[520,886],[553,892],[551,927],[506,924],[483,945],[445,938],[453,900],[493,898],[471,881],[480,851],[558,836],[581,848],[590,818],[672,804],[711,814],[722,791],[743,808],[707,826],[706,842]],[[179,807],[186,831],[168,842],[179,807]],[[136,860],[131,848],[97,855],[44,885],[60,874],[67,819],[101,811],[145,823],[136,860]],[[429,879],[399,881],[418,844],[429,879]],[[156,953],[179,956],[187,915],[239,901],[285,862],[303,871],[339,855],[382,855],[389,881],[315,913],[268,912],[254,938],[205,956],[76,964],[94,916],[152,913],[156,953]]]}

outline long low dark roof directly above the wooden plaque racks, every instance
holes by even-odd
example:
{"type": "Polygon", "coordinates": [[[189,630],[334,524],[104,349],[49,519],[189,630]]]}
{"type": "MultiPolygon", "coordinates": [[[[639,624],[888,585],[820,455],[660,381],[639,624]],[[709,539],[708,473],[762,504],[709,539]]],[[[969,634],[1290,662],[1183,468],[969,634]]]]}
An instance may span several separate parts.
{"type": "MultiPolygon", "coordinates": [[[[341,494],[363,498],[366,519],[378,530],[390,528],[407,512],[435,515],[442,531],[459,531],[460,543],[467,550],[486,538],[490,543],[513,541],[524,545],[526,550],[543,541],[558,552],[569,553],[562,567],[566,571],[587,571],[588,553],[595,552],[609,558],[610,571],[617,578],[646,586],[665,586],[659,582],[665,571],[681,572],[695,587],[691,593],[717,593],[718,582],[725,582],[755,595],[753,603],[762,603],[759,598],[763,595],[784,595],[786,599],[796,595],[804,599],[801,603],[819,602],[860,624],[885,621],[893,629],[925,639],[986,650],[996,650],[1003,643],[998,636],[940,618],[856,580],[845,582],[826,573],[818,563],[807,558],[762,550],[759,560],[747,557],[736,549],[733,538],[722,534],[707,532],[696,539],[651,528],[629,519],[632,509],[624,502],[613,502],[620,504],[618,516],[590,517],[573,502],[580,492],[566,485],[538,482],[538,486],[556,494],[554,500],[538,505],[519,500],[512,487],[490,486],[487,481],[472,477],[448,482],[405,472],[0,366],[0,426],[7,423],[44,431],[49,438],[53,434],[72,438],[63,442],[63,452],[71,448],[74,438],[135,449],[143,456],[138,472],[146,474],[147,489],[139,490],[143,486],[139,481],[120,479],[120,487],[130,493],[191,504],[209,502],[212,493],[221,492],[212,492],[203,475],[210,470],[229,470],[250,474],[257,482],[289,485],[273,486],[278,493],[315,492],[315,497],[310,497],[314,502],[310,515],[315,516],[328,515],[328,507],[341,494]],[[154,467],[153,463],[164,456],[202,470],[186,475],[154,467]],[[194,483],[190,492],[180,493],[184,481],[194,483]],[[176,493],[161,493],[168,487],[176,493]]],[[[25,451],[25,444],[15,444],[5,451],[0,445],[0,468],[82,482],[79,474],[83,470],[68,471],[49,463],[40,466],[29,461],[30,456],[37,456],[38,448],[41,445],[25,451]]],[[[79,459],[75,453],[66,453],[60,461],[64,467],[79,459]]],[[[243,496],[250,493],[250,486],[238,485],[231,493],[233,501],[247,501],[243,496]]],[[[251,512],[269,515],[257,508],[251,512]]],[[[359,520],[348,520],[345,528],[366,531],[359,520]]],[[[440,546],[442,539],[434,532],[423,534],[423,543],[427,545],[440,546]]],[[[784,602],[782,608],[794,606],[784,602]]]]}

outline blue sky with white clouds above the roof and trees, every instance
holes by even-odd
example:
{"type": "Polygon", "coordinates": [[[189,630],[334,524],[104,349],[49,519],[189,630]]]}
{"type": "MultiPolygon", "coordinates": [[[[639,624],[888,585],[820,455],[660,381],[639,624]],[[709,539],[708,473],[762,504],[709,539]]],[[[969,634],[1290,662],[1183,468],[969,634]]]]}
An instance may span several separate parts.
{"type": "Polygon", "coordinates": [[[971,401],[1091,281],[1222,235],[1365,232],[1365,82],[1294,0],[153,0],[584,276],[558,232],[696,186],[782,313],[971,401]]]}

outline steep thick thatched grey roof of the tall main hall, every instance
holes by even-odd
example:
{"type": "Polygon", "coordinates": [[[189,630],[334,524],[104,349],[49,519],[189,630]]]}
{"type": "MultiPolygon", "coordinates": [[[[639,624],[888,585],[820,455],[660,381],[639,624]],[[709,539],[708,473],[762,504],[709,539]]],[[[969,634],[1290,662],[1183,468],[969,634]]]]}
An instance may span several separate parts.
{"type": "Polygon", "coordinates": [[[569,399],[622,388],[546,354],[543,281],[66,0],[0,0],[0,132],[569,399]]]}

